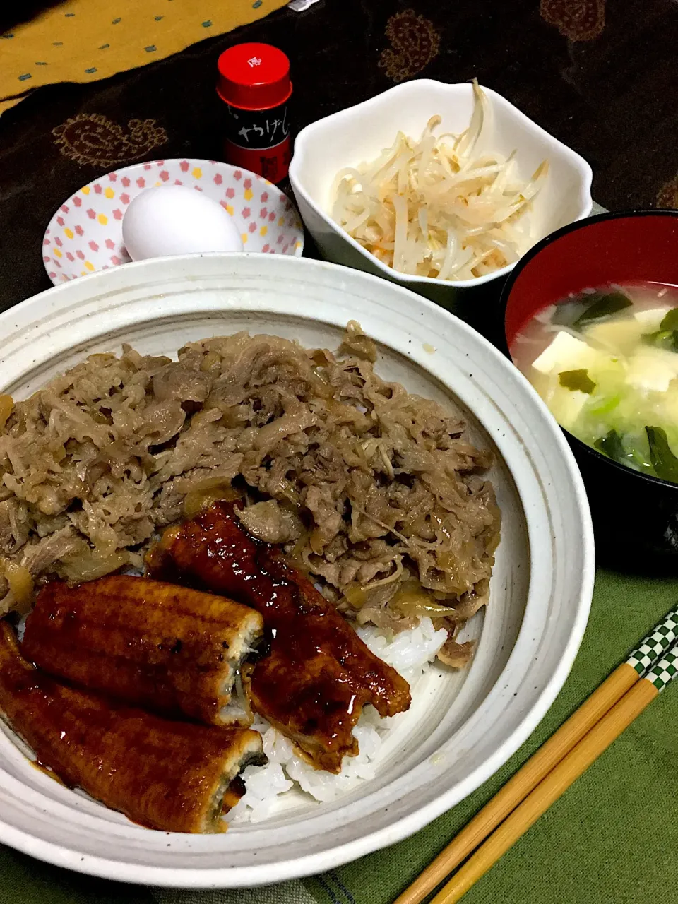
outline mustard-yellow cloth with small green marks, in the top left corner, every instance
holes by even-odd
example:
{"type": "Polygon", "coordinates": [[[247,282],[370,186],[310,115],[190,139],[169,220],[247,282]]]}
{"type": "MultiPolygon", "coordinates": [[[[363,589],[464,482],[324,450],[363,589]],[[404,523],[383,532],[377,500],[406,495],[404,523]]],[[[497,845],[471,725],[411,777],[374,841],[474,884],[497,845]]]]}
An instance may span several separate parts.
{"type": "Polygon", "coordinates": [[[0,113],[41,85],[97,81],[250,24],[287,0],[66,0],[0,36],[0,113]]]}

